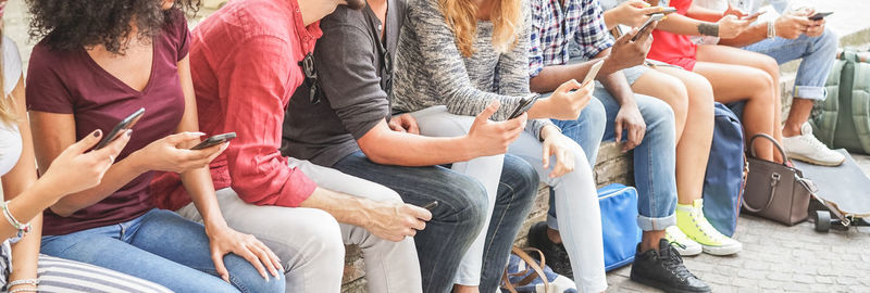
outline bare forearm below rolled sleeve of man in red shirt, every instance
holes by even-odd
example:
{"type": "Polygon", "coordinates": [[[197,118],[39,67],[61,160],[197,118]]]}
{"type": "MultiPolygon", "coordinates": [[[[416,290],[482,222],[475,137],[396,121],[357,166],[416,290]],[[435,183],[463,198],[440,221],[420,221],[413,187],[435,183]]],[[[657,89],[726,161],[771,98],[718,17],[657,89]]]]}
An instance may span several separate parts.
{"type": "Polygon", "coordinates": [[[356,198],[345,193],[318,187],[300,207],[318,208],[330,213],[338,222],[358,227],[368,227],[370,211],[377,203],[368,199],[356,198]]]}

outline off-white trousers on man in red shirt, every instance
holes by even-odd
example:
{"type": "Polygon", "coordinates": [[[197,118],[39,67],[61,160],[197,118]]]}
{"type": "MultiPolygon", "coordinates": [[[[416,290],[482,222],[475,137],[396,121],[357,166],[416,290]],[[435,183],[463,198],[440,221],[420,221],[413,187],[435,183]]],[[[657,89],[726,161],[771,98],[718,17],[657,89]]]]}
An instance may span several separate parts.
{"type": "MultiPolygon", "coordinates": [[[[401,202],[395,191],[333,168],[290,157],[319,187],[374,201],[401,202]]],[[[229,227],[257,237],[285,266],[286,292],[340,292],[345,244],[357,244],[365,263],[369,292],[422,292],[420,264],[413,238],[391,242],[365,229],[338,224],[326,212],[304,207],[258,206],[241,201],[229,188],[217,191],[217,202],[229,227]]],[[[192,203],[177,211],[202,221],[192,203]]]]}

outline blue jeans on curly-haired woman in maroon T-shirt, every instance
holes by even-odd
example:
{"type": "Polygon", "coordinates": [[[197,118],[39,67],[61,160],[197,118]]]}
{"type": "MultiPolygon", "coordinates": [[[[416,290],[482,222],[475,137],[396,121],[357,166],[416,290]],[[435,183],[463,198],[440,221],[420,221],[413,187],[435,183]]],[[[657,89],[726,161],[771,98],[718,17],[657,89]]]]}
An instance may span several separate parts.
{"type": "Polygon", "coordinates": [[[228,284],[214,269],[202,225],[151,209],[129,221],[42,238],[41,252],[113,269],[175,292],[284,292],[284,277],[263,280],[235,254],[224,256],[228,284]]]}

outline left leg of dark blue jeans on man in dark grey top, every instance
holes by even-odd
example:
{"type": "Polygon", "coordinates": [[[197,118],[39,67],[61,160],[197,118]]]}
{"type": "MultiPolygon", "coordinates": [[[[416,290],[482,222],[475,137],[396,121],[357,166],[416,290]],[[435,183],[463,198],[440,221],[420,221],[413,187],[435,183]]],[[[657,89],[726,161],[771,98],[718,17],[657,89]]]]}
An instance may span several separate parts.
{"type": "MultiPolygon", "coordinates": [[[[450,292],[460,260],[483,229],[488,205],[484,187],[443,166],[376,164],[362,151],[345,156],[332,167],[381,183],[398,192],[408,204],[423,206],[438,201],[426,229],[417,232],[414,244],[423,292],[450,292]]],[[[507,259],[507,255],[504,257],[507,259]]]]}

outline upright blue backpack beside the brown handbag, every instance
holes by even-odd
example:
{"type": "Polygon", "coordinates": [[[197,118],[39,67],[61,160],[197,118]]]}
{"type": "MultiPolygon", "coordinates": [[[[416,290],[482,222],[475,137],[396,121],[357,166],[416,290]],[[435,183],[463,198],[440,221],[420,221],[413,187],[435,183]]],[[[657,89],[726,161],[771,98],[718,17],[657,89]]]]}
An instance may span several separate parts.
{"type": "MultiPolygon", "coordinates": [[[[734,106],[735,112],[742,112],[742,103],[734,106]]],[[[704,215],[716,230],[731,237],[737,228],[748,167],[743,126],[737,115],[723,104],[716,103],[713,115],[713,141],[704,177],[704,215]]]]}

